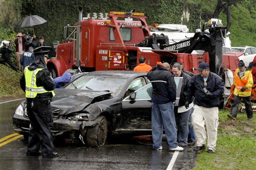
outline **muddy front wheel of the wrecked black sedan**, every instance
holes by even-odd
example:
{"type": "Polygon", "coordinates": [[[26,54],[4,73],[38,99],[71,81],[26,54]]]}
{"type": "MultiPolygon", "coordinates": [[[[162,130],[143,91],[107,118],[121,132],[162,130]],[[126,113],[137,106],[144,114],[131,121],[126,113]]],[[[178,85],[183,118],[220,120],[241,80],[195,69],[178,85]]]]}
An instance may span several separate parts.
{"type": "Polygon", "coordinates": [[[100,147],[105,144],[107,135],[106,117],[100,115],[96,118],[96,124],[89,127],[86,132],[86,142],[90,146],[100,147]]]}

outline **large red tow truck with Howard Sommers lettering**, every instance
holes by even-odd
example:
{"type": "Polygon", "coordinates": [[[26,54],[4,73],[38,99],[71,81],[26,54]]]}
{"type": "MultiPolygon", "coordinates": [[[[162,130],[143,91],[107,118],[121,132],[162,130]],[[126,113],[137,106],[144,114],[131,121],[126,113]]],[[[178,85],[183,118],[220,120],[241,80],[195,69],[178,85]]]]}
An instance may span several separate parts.
{"type": "Polygon", "coordinates": [[[76,25],[64,27],[65,37],[70,41],[58,44],[56,58],[47,62],[52,77],[64,71],[133,70],[139,57],[145,56],[151,66],[156,61],[178,61],[185,70],[194,73],[198,72],[198,64],[205,61],[211,71],[225,77],[227,87],[232,85],[239,54],[221,51],[226,27],[211,25],[209,33],[197,32],[193,37],[169,44],[171,37],[150,35],[143,13],[111,11],[107,16],[108,19],[83,18],[79,8],[76,25]],[[71,28],[74,29],[70,31],[71,28]],[[193,54],[197,49],[204,52],[193,54]]]}

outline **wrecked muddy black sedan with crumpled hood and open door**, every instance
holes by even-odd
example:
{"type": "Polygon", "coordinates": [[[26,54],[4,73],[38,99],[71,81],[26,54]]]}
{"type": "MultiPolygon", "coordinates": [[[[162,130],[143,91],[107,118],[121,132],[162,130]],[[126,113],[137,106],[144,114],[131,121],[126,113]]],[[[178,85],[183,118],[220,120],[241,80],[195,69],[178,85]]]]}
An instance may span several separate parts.
{"type": "MultiPolygon", "coordinates": [[[[175,82],[178,99],[182,80],[175,78],[175,82]]],[[[107,135],[151,133],[151,91],[145,72],[84,73],[62,88],[54,89],[56,95],[51,102],[53,136],[62,135],[80,139],[90,146],[103,146],[107,135]]],[[[14,131],[27,136],[26,101],[17,106],[12,120],[14,131]]]]}

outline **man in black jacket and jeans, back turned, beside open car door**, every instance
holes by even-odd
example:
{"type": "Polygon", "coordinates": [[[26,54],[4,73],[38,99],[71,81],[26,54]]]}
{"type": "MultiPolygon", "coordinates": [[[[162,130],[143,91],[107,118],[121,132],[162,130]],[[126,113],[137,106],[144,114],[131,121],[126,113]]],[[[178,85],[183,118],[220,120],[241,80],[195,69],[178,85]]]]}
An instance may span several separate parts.
{"type": "Polygon", "coordinates": [[[169,150],[183,150],[177,145],[177,133],[173,111],[176,99],[176,84],[173,75],[161,62],[147,73],[152,83],[152,139],[153,148],[161,150],[162,127],[164,127],[169,150]]]}

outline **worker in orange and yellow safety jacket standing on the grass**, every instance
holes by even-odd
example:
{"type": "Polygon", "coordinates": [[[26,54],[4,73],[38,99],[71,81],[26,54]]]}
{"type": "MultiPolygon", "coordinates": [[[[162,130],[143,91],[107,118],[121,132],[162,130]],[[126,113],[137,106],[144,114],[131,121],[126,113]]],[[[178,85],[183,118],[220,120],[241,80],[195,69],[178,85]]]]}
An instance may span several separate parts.
{"type": "Polygon", "coordinates": [[[252,120],[252,107],[250,101],[251,87],[253,85],[253,79],[251,71],[244,66],[242,60],[238,63],[238,68],[234,71],[234,100],[231,108],[230,114],[227,116],[231,119],[236,119],[238,105],[240,104],[241,99],[244,101],[245,110],[247,114],[247,119],[252,120]]]}

